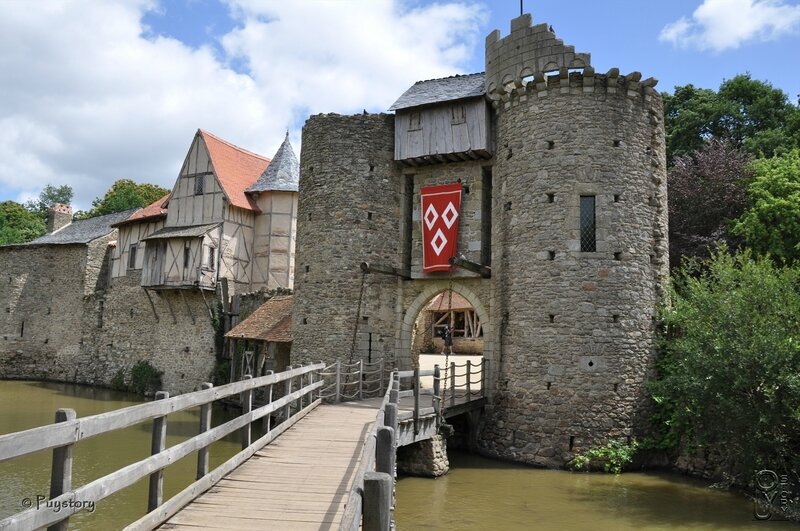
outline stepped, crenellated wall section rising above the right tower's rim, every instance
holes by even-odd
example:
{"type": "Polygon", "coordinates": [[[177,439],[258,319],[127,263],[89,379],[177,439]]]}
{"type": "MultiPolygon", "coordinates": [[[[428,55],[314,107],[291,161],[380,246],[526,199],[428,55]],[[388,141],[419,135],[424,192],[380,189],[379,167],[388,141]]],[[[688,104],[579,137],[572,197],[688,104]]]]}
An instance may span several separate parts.
{"type": "Polygon", "coordinates": [[[590,66],[590,54],[565,45],[552,26],[532,25],[530,14],[512,20],[506,37],[501,39],[498,30],[486,37],[486,92],[515,79],[590,66]]]}

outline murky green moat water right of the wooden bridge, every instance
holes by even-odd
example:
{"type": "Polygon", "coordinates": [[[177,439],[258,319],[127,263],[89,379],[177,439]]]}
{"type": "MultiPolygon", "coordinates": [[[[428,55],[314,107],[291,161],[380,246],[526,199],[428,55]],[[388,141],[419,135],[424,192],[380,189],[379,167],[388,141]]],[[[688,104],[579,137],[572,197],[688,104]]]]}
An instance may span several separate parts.
{"type": "Polygon", "coordinates": [[[753,518],[741,494],[673,474],[541,470],[450,452],[438,479],[401,478],[400,530],[797,529],[753,518]]]}

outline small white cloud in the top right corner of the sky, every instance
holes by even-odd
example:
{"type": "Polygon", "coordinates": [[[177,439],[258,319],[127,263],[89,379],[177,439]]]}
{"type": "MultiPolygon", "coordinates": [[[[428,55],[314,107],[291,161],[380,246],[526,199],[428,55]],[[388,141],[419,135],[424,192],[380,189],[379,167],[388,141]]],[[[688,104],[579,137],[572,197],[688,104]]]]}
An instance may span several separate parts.
{"type": "Polygon", "coordinates": [[[692,13],[667,24],[659,39],[679,48],[720,52],[800,30],[800,5],[784,0],[704,0],[692,13]]]}

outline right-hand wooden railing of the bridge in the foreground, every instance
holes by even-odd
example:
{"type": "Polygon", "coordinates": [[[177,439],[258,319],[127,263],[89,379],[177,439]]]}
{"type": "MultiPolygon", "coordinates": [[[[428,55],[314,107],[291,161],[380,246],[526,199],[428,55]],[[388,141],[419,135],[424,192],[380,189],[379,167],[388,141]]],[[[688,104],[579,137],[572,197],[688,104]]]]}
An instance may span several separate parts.
{"type": "Polygon", "coordinates": [[[375,423],[361,449],[361,459],[339,526],[340,531],[360,528],[388,531],[394,498],[397,448],[397,408],[400,382],[397,371],[383,396],[375,423]]]}

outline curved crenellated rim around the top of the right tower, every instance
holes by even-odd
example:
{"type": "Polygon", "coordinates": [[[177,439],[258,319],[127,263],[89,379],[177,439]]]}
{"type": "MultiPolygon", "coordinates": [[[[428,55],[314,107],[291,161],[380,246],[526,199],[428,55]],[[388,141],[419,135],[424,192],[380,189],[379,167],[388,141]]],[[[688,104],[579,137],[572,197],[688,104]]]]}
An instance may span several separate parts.
{"type": "Polygon", "coordinates": [[[587,66],[582,72],[570,72],[562,67],[555,75],[538,73],[532,78],[510,79],[502,85],[492,86],[487,95],[496,109],[507,108],[512,102],[527,97],[545,98],[553,92],[625,94],[630,98],[644,98],[649,101],[658,94],[655,90],[656,84],[658,80],[652,77],[642,80],[641,72],[620,75],[618,68],[612,68],[605,74],[597,74],[591,66],[587,66]]]}

